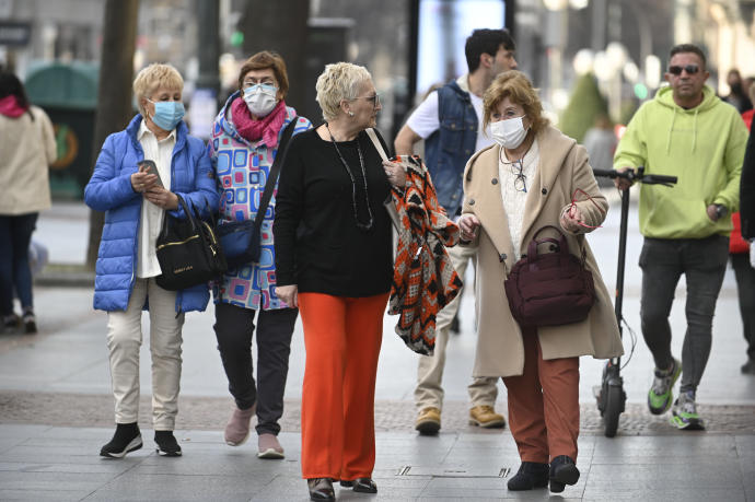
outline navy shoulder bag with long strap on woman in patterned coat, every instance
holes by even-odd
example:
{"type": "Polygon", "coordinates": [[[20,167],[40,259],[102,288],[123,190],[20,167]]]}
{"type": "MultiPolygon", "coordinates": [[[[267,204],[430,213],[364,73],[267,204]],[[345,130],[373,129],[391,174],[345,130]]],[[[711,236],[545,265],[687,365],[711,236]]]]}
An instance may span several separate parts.
{"type": "Polygon", "coordinates": [[[272,191],[275,191],[280,168],[283,165],[283,160],[286,159],[286,150],[289,139],[291,139],[291,136],[293,135],[293,129],[297,127],[298,119],[299,117],[293,117],[293,119],[288,126],[286,126],[286,129],[283,130],[283,136],[278,144],[278,153],[272,161],[270,174],[267,177],[265,191],[263,192],[263,198],[259,201],[259,208],[257,209],[257,215],[255,217],[254,221],[232,221],[218,225],[220,245],[223,248],[229,268],[235,268],[240,265],[257,262],[259,260],[259,231],[263,226],[263,221],[265,220],[265,213],[267,212],[267,206],[270,203],[272,191]]]}

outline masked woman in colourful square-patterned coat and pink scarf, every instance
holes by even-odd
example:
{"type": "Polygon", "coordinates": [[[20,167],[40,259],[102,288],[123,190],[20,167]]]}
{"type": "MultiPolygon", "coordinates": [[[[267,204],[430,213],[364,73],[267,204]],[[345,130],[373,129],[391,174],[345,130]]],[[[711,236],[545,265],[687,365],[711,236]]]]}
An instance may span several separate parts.
{"type": "MultiPolygon", "coordinates": [[[[274,52],[257,52],[242,66],[239,91],[214,121],[208,149],[218,177],[221,225],[256,218],[283,130],[292,120],[297,120],[294,135],[312,128],[306,118],[297,117],[286,106],[288,89],[283,59],[274,52]]],[[[256,413],[260,458],[283,458],[278,420],[283,415],[291,335],[299,314],[276,294],[275,206],[274,194],[259,232],[258,262],[229,269],[213,290],[218,350],[236,404],[225,425],[225,443],[243,444],[256,413]],[[252,363],[255,314],[256,384],[252,363]]]]}

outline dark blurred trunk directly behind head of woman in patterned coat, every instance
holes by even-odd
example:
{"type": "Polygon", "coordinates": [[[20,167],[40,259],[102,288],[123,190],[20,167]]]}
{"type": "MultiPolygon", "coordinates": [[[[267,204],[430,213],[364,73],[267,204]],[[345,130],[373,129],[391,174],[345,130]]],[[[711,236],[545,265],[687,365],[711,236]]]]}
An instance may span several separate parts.
{"type": "Polygon", "coordinates": [[[310,0],[247,0],[239,21],[246,57],[260,50],[275,50],[283,57],[289,74],[286,104],[297,109],[305,101],[309,19],[310,0]]]}

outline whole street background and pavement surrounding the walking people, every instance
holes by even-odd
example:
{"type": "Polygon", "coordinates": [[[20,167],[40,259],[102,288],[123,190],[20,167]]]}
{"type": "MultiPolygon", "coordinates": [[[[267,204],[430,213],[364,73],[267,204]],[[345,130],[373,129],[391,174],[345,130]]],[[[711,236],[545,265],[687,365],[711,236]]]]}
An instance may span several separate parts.
{"type": "MultiPolygon", "coordinates": [[[[707,83],[721,96],[730,93],[730,69],[755,75],[755,0],[0,0],[0,67],[24,81],[32,103],[50,116],[58,143],[50,166],[55,202],[40,214],[34,235],[50,255],[35,287],[39,334],[0,336],[0,501],[307,499],[299,465],[301,324],[281,421],[287,458],[260,460],[254,433],[237,448],[222,441],[233,402],[216,349],[212,305],[187,315],[183,331],[176,436],[184,456],[154,453],[148,330],[139,417],[144,447],[123,460],[98,456],[113,433],[106,314],[92,310],[102,213],[90,212],[81,198],[104,138],[124,129],[135,113],[130,86],[137,71],[155,61],[174,65],[185,79],[191,133],[207,138],[241,63],[259,50],[284,57],[287,103],[314,122],[321,115],[314,82],[323,67],[339,60],[364,65],[381,93],[378,127],[394,138],[430,82],[465,71],[461,49],[472,28],[501,26],[512,31],[519,68],[539,89],[547,117],[584,143],[599,168],[611,165],[596,164],[590,133],[609,159],[624,125],[663,85],[672,46],[704,48],[707,83]]],[[[619,210],[615,190],[606,188],[606,195],[612,209],[589,242],[612,290],[619,210]]],[[[644,405],[653,364],[639,329],[641,237],[634,205],[629,224],[624,315],[638,339],[634,345],[625,329],[627,409],[618,435],[604,437],[593,397],[603,362],[582,358],[582,477],[553,498],[755,501],[755,377],[740,373],[746,357],[733,273],[727,272],[719,296],[711,357],[697,395],[707,431],[676,431],[667,416],[651,417],[644,405]]],[[[465,280],[472,283],[474,276],[465,280]]],[[[676,297],[671,323],[680,357],[684,280],[676,297]]],[[[461,334],[449,342],[442,429],[421,437],[413,429],[418,355],[404,347],[395,319],[386,316],[375,406],[380,491],[375,497],[337,489],[339,500],[549,495],[509,492],[506,482],[520,460],[508,429],[467,424],[474,317],[467,288],[461,334]]],[[[499,388],[497,408],[506,413],[506,390],[499,388]]]]}

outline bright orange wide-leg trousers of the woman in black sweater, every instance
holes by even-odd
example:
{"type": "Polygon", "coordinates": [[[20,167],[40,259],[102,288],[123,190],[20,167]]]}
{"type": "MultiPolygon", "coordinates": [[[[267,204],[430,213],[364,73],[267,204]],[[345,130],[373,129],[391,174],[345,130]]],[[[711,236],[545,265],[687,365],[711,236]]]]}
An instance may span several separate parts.
{"type": "Polygon", "coordinates": [[[375,466],[375,376],[388,294],[300,293],[306,365],[302,477],[371,478],[375,466]]]}

